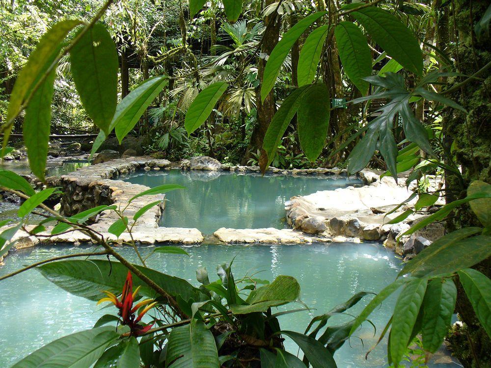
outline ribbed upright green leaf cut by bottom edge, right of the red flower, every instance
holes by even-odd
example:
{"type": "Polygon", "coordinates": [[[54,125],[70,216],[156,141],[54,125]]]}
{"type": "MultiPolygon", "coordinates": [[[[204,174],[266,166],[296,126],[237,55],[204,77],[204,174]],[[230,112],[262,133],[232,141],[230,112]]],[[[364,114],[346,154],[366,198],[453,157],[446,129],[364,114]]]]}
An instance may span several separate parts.
{"type": "Polygon", "coordinates": [[[166,367],[217,368],[217,345],[202,321],[193,319],[187,326],[172,329],[167,343],[166,367]]]}

